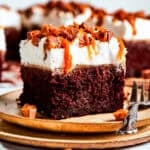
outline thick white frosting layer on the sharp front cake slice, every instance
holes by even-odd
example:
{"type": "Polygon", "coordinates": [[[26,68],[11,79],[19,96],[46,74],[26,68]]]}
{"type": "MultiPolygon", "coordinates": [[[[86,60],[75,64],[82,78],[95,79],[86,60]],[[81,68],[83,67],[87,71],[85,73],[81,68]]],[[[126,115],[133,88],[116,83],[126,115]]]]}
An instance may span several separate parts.
{"type": "MultiPolygon", "coordinates": [[[[62,70],[64,68],[64,49],[56,48],[46,51],[47,57],[44,60],[43,44],[45,38],[41,39],[39,46],[36,47],[31,41],[23,40],[20,44],[21,63],[24,65],[35,65],[42,68],[47,68],[52,71],[62,70]]],[[[91,46],[92,48],[92,46],[91,46]]],[[[97,54],[93,52],[91,58],[89,58],[88,48],[84,46],[79,47],[79,40],[76,38],[74,42],[70,43],[70,54],[72,56],[72,68],[77,65],[102,65],[102,64],[114,64],[125,65],[124,49],[123,57],[121,60],[117,59],[119,51],[118,40],[114,37],[109,42],[96,41],[97,54]],[[80,58],[79,58],[80,56],[80,58]]]]}

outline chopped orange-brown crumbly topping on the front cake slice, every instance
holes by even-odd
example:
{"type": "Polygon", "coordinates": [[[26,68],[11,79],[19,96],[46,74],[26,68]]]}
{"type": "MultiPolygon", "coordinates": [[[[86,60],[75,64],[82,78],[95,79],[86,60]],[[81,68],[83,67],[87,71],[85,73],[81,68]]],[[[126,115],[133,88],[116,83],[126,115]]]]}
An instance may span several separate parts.
{"type": "Polygon", "coordinates": [[[61,42],[59,39],[60,37],[68,40],[68,42],[72,42],[76,37],[79,31],[83,31],[85,35],[81,37],[79,45],[87,46],[92,44],[93,40],[100,40],[102,42],[109,41],[113,36],[112,32],[102,28],[96,27],[95,29],[88,27],[85,24],[77,25],[73,24],[68,27],[61,26],[61,27],[54,27],[52,25],[43,25],[41,30],[34,30],[27,33],[28,40],[32,40],[32,43],[35,46],[38,46],[38,42],[42,37],[46,37],[46,44],[44,49],[50,48],[60,48],[61,42]],[[87,35],[90,36],[87,36],[87,35]],[[54,38],[57,37],[57,38],[54,38]],[[52,42],[52,43],[51,43],[52,42]]]}

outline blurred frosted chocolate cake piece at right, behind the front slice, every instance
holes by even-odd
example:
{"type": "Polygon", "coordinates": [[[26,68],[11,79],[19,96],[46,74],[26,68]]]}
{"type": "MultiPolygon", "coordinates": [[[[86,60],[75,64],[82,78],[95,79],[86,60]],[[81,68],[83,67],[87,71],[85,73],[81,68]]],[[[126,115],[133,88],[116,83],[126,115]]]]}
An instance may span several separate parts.
{"type": "Polygon", "coordinates": [[[117,10],[109,14],[93,9],[88,24],[102,25],[125,41],[128,51],[127,77],[139,77],[143,69],[150,68],[150,18],[144,12],[117,10]]]}

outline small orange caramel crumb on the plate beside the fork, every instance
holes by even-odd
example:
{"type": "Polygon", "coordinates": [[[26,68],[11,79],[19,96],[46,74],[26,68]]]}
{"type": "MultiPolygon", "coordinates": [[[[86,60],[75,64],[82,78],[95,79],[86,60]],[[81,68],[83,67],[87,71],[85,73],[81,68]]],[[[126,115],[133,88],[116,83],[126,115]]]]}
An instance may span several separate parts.
{"type": "Polygon", "coordinates": [[[119,109],[113,113],[116,120],[123,120],[127,115],[128,111],[125,109],[119,109]]]}

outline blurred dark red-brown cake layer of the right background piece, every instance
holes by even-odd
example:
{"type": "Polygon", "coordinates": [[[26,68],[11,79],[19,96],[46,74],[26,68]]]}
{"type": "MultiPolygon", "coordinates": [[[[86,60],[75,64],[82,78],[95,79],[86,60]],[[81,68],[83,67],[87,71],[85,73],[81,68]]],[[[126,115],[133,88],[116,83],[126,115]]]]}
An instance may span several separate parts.
{"type": "Polygon", "coordinates": [[[150,41],[125,41],[127,48],[127,77],[140,77],[150,68],[150,41]]]}

